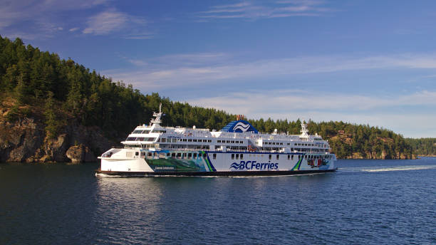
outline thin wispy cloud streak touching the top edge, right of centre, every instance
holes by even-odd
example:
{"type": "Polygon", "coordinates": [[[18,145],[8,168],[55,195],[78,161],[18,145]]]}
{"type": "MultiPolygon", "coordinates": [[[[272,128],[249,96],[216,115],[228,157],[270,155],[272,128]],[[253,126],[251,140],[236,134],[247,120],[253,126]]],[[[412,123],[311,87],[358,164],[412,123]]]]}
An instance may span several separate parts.
{"type": "Polygon", "coordinates": [[[266,19],[291,16],[321,16],[334,9],[324,7],[324,1],[269,1],[259,4],[243,1],[237,4],[211,6],[199,13],[202,19],[266,19]]]}

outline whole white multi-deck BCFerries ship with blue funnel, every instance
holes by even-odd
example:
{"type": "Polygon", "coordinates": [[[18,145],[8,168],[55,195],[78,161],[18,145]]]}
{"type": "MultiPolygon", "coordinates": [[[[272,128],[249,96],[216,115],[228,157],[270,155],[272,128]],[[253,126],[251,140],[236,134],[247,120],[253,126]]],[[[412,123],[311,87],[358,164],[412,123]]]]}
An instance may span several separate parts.
{"type": "Polygon", "coordinates": [[[274,130],[261,133],[242,115],[222,130],[163,127],[162,105],[149,125],[139,125],[100,157],[97,175],[115,176],[263,176],[334,172],[336,155],[328,141],[274,130]]]}

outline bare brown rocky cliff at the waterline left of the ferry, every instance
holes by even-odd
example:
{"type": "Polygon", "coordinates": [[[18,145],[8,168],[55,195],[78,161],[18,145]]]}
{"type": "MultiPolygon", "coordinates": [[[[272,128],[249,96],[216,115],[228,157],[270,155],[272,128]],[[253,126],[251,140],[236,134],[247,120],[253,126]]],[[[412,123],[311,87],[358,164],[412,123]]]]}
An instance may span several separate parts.
{"type": "Polygon", "coordinates": [[[95,162],[103,151],[118,145],[99,127],[85,127],[76,120],[63,125],[56,137],[48,137],[42,120],[8,120],[9,113],[0,108],[0,162],[95,162]]]}

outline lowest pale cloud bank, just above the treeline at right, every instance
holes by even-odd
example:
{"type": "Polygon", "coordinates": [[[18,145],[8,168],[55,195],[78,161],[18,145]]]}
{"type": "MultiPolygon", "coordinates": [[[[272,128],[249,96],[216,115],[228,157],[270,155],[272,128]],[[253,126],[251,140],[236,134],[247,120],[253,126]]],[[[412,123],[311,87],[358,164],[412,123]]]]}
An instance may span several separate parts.
{"type": "Polygon", "coordinates": [[[407,137],[424,137],[411,125],[419,125],[423,132],[434,132],[432,120],[436,115],[428,113],[387,113],[392,108],[435,107],[436,92],[422,90],[417,93],[396,96],[371,97],[341,93],[321,93],[311,90],[251,90],[243,93],[190,99],[192,105],[217,108],[229,113],[244,114],[248,118],[272,118],[296,120],[312,119],[317,122],[343,120],[350,123],[378,125],[407,137]]]}

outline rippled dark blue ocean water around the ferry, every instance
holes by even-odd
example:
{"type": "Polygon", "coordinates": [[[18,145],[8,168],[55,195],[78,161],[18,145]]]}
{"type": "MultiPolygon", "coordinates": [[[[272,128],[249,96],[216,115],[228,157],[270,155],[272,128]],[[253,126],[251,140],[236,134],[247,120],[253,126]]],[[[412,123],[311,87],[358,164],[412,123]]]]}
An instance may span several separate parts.
{"type": "Polygon", "coordinates": [[[328,174],[95,177],[0,164],[0,244],[436,244],[436,158],[328,174]]]}

